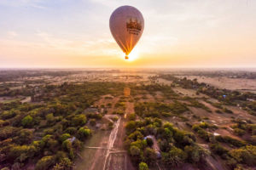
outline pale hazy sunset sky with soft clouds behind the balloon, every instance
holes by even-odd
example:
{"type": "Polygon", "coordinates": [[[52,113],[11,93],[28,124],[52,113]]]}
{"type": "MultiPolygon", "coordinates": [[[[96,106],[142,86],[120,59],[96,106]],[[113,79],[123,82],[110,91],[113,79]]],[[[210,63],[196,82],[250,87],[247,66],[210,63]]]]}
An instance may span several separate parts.
{"type": "Polygon", "coordinates": [[[0,0],[1,68],[256,67],[255,0],[0,0]],[[115,8],[144,17],[125,60],[115,8]]]}

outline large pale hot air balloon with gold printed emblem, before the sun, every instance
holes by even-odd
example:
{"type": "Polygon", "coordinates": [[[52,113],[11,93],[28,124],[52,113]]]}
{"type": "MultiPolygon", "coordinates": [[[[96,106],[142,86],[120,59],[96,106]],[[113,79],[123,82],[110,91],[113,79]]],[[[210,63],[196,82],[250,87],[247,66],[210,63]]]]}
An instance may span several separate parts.
{"type": "Polygon", "coordinates": [[[109,20],[110,31],[119,47],[125,53],[125,59],[143,34],[143,14],[134,7],[121,6],[113,11],[109,20]]]}

